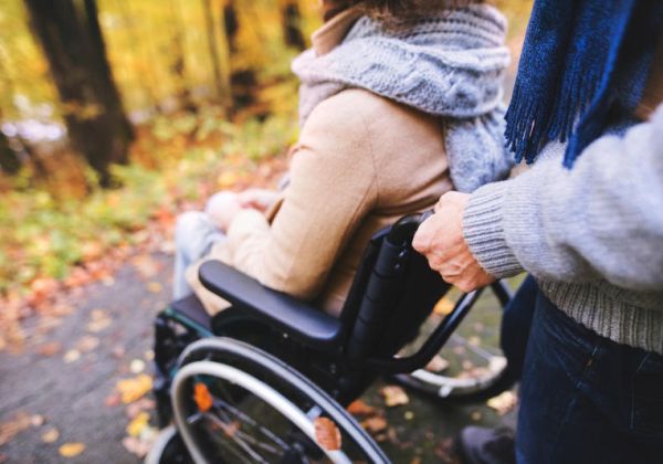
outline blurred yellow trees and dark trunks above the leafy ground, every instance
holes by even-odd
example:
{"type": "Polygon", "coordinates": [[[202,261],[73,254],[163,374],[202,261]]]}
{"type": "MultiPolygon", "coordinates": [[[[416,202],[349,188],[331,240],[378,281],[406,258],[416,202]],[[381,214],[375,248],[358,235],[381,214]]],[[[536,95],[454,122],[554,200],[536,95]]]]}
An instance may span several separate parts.
{"type": "Polygon", "coordinates": [[[265,116],[261,91],[292,80],[287,62],[317,25],[309,3],[0,0],[0,176],[40,183],[43,158],[65,157],[109,187],[134,127],[157,115],[265,116]]]}

